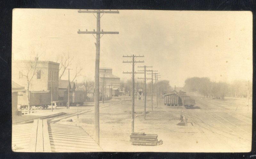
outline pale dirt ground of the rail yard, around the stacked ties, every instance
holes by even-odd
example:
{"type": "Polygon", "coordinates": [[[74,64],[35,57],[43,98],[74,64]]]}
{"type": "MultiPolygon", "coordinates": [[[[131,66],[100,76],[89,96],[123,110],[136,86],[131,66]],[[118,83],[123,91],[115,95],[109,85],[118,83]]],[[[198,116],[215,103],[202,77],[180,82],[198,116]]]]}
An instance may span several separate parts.
{"type": "MultiPolygon", "coordinates": [[[[131,145],[131,97],[119,97],[100,103],[100,147],[110,152],[249,152],[252,138],[252,101],[203,98],[190,93],[196,100],[194,109],[184,106],[165,106],[156,99],[151,111],[147,99],[146,120],[143,118],[144,100],[135,99],[134,132],[157,134],[163,140],[159,146],[131,145]],[[111,103],[129,100],[109,106],[111,103]],[[108,107],[106,107],[108,106],[108,107]],[[180,123],[181,111],[188,119],[187,126],[180,123]]],[[[71,107],[75,112],[76,107],[71,107]]],[[[94,106],[79,107],[79,111],[93,110],[94,106]]],[[[79,125],[94,138],[94,111],[60,120],[58,123],[79,125]],[[72,119],[73,122],[67,122],[72,119]]]]}

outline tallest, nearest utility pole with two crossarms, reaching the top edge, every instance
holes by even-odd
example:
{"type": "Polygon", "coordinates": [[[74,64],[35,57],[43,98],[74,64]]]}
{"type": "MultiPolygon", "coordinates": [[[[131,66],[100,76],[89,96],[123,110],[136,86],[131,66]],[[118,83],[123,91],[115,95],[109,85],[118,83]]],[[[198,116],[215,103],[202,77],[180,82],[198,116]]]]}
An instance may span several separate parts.
{"type": "MultiPolygon", "coordinates": [[[[119,11],[88,11],[88,10],[79,10],[78,13],[97,13],[97,31],[80,31],[78,30],[78,34],[96,34],[96,58],[95,58],[95,77],[94,77],[94,83],[95,83],[95,94],[94,94],[94,136],[95,141],[100,145],[100,107],[99,107],[99,89],[100,89],[100,34],[119,34],[119,32],[106,32],[101,30],[100,31],[100,13],[119,13],[119,11]]],[[[103,15],[102,14],[102,15],[103,15]]]]}

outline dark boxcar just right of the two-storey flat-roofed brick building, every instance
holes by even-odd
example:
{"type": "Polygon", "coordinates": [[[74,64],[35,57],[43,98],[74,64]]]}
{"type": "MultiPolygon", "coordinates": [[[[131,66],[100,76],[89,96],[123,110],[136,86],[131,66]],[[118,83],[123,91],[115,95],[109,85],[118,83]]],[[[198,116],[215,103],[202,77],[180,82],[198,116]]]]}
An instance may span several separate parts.
{"type": "MultiPolygon", "coordinates": [[[[69,101],[71,106],[76,106],[76,104],[83,105],[86,100],[85,91],[69,91],[69,101]]],[[[64,91],[64,101],[68,102],[68,91],[64,91]]]]}

